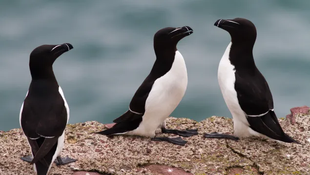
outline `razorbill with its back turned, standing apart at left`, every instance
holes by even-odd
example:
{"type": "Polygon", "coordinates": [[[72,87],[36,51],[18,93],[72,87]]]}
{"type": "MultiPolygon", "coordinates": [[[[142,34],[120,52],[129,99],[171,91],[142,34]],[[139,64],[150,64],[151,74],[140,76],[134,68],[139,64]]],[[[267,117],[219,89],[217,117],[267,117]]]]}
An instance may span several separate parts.
{"type": "Polygon", "coordinates": [[[52,67],[62,53],[71,49],[73,46],[69,43],[42,45],[30,54],[32,80],[21,105],[20,124],[31,147],[32,156],[21,159],[34,164],[38,175],[46,175],[56,158],[57,165],[76,161],[60,157],[64,129],[69,120],[69,107],[52,67]]]}

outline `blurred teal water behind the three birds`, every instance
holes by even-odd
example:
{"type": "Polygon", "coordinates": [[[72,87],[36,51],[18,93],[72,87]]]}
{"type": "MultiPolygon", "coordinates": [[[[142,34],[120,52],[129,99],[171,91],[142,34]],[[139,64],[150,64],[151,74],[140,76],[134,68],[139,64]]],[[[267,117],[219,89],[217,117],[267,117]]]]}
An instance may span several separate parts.
{"type": "Polygon", "coordinates": [[[20,127],[31,81],[31,51],[69,42],[54,64],[70,107],[69,123],[111,123],[122,115],[155,61],[153,35],[164,27],[193,28],[178,44],[188,86],[174,117],[231,117],[218,81],[230,41],[219,18],[248,18],[257,28],[254,59],[271,89],[275,112],[309,105],[309,0],[11,0],[0,2],[0,130],[20,127]]]}

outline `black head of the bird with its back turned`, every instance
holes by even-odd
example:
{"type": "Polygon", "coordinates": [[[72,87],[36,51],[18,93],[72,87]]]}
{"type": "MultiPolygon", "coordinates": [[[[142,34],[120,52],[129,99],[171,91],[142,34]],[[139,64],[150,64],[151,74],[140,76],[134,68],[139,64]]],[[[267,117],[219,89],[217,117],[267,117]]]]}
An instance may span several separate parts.
{"type": "Polygon", "coordinates": [[[73,49],[69,43],[62,45],[41,45],[30,53],[29,68],[33,79],[54,76],[53,63],[62,55],[73,49]]]}

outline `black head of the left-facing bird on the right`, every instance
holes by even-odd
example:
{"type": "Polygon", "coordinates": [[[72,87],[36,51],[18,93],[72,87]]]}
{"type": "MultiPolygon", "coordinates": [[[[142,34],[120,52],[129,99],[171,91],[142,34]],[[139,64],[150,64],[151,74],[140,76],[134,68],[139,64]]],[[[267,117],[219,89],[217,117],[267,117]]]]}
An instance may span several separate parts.
{"type": "Polygon", "coordinates": [[[226,30],[231,36],[232,43],[251,42],[254,45],[256,40],[256,27],[248,19],[218,19],[214,25],[226,30]]]}

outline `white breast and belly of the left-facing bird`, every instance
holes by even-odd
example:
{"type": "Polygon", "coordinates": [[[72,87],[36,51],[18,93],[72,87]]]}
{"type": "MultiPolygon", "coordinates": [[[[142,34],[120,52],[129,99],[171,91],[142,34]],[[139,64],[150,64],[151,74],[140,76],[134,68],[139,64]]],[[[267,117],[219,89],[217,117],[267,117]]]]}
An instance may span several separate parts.
{"type": "Polygon", "coordinates": [[[237,92],[235,90],[235,67],[230,63],[229,52],[230,52],[231,42],[227,46],[227,49],[220,61],[218,69],[218,81],[219,85],[226,102],[226,105],[232,115],[234,122],[234,134],[238,137],[248,136],[250,133],[248,131],[248,121],[245,116],[244,111],[239,105],[237,92]]]}

